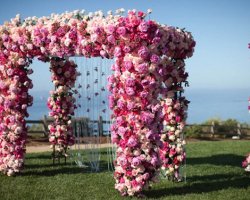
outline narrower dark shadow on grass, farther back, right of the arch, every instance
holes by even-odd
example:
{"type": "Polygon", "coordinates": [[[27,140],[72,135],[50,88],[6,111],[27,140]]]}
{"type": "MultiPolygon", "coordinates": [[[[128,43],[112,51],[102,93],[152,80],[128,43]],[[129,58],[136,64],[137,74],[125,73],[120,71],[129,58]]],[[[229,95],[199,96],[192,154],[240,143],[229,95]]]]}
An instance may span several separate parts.
{"type": "Polygon", "coordinates": [[[187,158],[188,165],[200,165],[200,164],[212,164],[220,166],[235,166],[241,167],[241,162],[244,156],[239,156],[235,154],[218,154],[208,157],[198,157],[198,158],[187,158]]]}

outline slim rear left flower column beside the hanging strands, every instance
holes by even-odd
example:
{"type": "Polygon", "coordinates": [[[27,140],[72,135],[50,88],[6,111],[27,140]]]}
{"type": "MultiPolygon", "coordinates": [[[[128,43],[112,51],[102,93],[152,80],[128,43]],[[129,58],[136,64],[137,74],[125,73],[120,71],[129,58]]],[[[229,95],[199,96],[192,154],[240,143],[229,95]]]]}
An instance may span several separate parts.
{"type": "Polygon", "coordinates": [[[50,71],[55,90],[51,91],[51,97],[48,99],[50,116],[54,118],[54,122],[49,125],[49,141],[56,150],[54,158],[67,156],[68,146],[74,144],[71,117],[76,108],[73,95],[76,92],[74,86],[78,76],[76,68],[77,65],[73,61],[51,58],[50,71]]]}

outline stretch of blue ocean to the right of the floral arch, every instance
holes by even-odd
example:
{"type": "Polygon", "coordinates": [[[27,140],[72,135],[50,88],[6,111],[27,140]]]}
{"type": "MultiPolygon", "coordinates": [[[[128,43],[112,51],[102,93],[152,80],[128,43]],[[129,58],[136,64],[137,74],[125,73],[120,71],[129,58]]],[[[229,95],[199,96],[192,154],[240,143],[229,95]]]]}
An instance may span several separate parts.
{"type": "Polygon", "coordinates": [[[188,123],[201,123],[209,118],[236,119],[250,122],[248,98],[250,89],[199,90],[187,88],[186,98],[190,101],[188,123]]]}

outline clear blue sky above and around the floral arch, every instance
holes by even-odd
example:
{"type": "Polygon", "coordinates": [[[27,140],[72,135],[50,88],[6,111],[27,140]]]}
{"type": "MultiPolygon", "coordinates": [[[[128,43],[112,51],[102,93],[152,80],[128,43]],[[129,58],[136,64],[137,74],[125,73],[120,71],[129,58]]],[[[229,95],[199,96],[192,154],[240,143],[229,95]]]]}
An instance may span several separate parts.
{"type": "MultiPolygon", "coordinates": [[[[146,11],[162,24],[186,28],[197,42],[187,60],[189,82],[194,89],[250,91],[250,1],[249,0],[0,0],[0,24],[17,13],[22,18],[47,16],[76,9],[86,11],[118,8],[146,11]]],[[[34,90],[52,87],[48,65],[32,65],[34,90]]]]}

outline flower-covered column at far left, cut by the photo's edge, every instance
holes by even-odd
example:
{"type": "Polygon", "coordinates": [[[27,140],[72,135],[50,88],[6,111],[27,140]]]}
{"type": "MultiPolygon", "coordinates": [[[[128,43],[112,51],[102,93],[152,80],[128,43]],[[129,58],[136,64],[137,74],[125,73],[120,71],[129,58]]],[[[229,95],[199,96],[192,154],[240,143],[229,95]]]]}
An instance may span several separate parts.
{"type": "MultiPolygon", "coordinates": [[[[5,42],[10,41],[5,36],[5,42]]],[[[28,94],[32,88],[29,64],[18,47],[0,53],[0,171],[8,176],[19,172],[24,164],[25,117],[33,101],[28,94]]]]}

